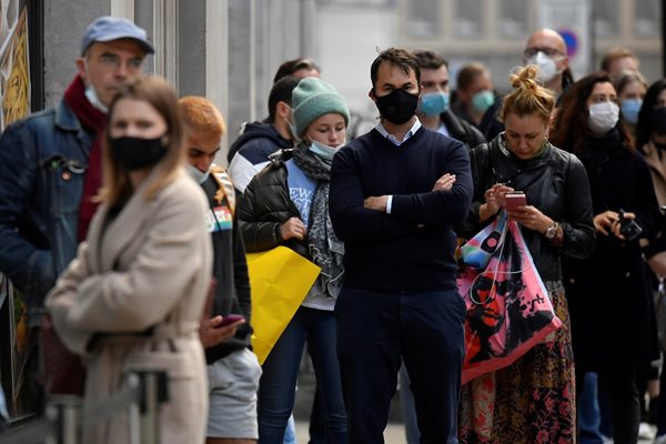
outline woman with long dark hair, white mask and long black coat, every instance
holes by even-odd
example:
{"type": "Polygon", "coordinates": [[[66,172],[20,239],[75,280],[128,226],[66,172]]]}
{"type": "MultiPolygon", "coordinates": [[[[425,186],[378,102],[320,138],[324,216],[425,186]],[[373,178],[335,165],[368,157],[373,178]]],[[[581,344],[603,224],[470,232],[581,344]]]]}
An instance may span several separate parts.
{"type": "Polygon", "coordinates": [[[589,179],[597,244],[585,259],[564,261],[577,387],[598,374],[610,400],[613,438],[636,443],[640,408],[636,377],[658,357],[652,294],[642,242],[660,229],[647,164],[619,120],[606,72],[592,73],[565,94],[552,140],[581,158],[589,179]]]}

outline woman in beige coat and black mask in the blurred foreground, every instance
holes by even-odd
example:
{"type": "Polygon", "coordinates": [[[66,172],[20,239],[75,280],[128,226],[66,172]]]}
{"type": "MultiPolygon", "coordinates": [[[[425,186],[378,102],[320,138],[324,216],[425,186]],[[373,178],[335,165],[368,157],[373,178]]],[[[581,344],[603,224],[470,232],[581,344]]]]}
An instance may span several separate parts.
{"type": "MultiPolygon", "coordinates": [[[[131,369],[165,370],[161,443],[203,443],[208,384],[199,321],[211,278],[205,198],[181,169],[173,89],[144,78],[109,111],[102,204],[47,297],[57,332],[84,359],[85,401],[117,393],[131,369]]],[[[85,443],[127,443],[128,418],[84,424],[85,443]]]]}

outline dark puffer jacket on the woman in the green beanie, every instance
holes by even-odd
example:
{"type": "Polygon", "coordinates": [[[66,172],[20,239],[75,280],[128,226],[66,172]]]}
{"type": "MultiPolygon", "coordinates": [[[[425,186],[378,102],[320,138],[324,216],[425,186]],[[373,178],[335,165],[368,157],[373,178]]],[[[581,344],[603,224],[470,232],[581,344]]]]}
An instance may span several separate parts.
{"type": "Polygon", "coordinates": [[[299,209],[289,196],[286,162],[293,150],[283,150],[272,155],[271,163],[259,172],[239,202],[239,221],[245,251],[258,252],[285,245],[306,255],[303,243],[282,240],[280,226],[290,218],[300,218],[299,209]]]}

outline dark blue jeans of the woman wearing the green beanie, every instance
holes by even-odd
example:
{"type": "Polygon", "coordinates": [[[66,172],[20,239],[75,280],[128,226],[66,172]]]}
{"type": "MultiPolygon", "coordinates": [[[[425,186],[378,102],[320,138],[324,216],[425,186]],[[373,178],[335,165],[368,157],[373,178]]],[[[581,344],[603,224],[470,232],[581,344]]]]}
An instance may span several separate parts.
{"type": "Polygon", "coordinates": [[[303,349],[312,357],[332,444],[346,444],[346,414],[335,355],[336,326],[332,311],[301,306],[263,365],[259,384],[259,442],[282,444],[294,407],[303,349]]]}

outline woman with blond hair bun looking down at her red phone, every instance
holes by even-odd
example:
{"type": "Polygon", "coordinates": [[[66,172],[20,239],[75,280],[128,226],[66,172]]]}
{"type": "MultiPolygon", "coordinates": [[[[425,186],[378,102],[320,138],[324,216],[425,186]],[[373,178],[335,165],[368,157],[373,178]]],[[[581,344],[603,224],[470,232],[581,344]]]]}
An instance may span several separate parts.
{"type": "Polygon", "coordinates": [[[472,236],[522,191],[526,205],[507,211],[518,222],[562,327],[512,365],[463,387],[461,443],[573,443],[575,372],[561,258],[588,256],[595,242],[589,183],[581,161],[548,141],[555,108],[529,65],[511,77],[514,90],[498,118],[505,125],[471,151],[474,199],[462,234],[472,236]]]}

